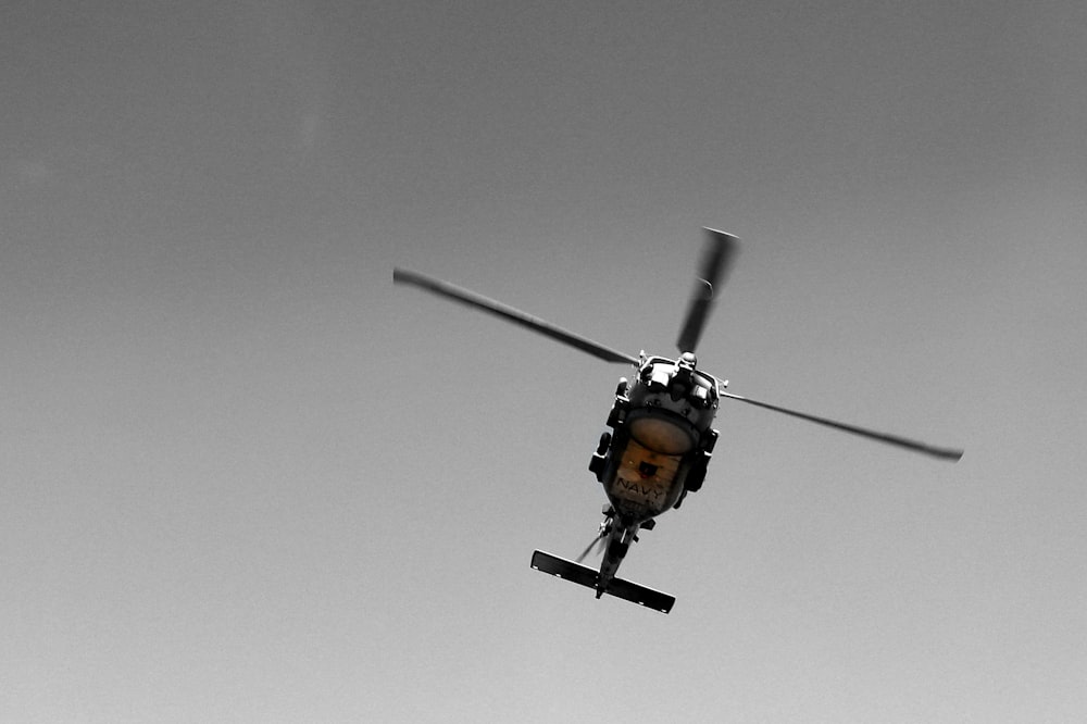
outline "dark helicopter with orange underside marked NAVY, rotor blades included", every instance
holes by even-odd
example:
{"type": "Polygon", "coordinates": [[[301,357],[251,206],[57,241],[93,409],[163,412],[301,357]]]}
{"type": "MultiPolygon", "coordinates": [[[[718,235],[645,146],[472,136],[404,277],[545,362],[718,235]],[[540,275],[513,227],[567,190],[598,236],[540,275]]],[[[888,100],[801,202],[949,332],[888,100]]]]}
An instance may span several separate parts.
{"type": "Polygon", "coordinates": [[[513,307],[489,299],[417,272],[395,267],[395,284],[418,287],[446,299],[466,304],[527,327],[551,339],[587,352],[604,362],[629,364],[632,379],[620,378],[605,430],[589,460],[589,472],[603,487],[608,502],[597,537],[576,559],[569,560],[536,550],[532,567],[614,596],[649,609],[669,613],[675,597],[616,576],[633,542],[641,530],[652,530],[657,517],[678,509],[690,492],[697,492],[717,441],[712,428],[721,400],[735,400],[800,420],[816,423],[899,448],[955,462],[963,451],[932,446],[917,440],[880,433],[857,425],[761,402],[726,391],[727,380],[698,367],[695,349],[739,250],[739,239],[712,228],[695,280],[687,312],[676,340],[675,359],[633,357],[558,327],[513,307]],[[594,548],[603,550],[599,569],[583,565],[594,548]]]}

